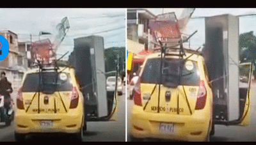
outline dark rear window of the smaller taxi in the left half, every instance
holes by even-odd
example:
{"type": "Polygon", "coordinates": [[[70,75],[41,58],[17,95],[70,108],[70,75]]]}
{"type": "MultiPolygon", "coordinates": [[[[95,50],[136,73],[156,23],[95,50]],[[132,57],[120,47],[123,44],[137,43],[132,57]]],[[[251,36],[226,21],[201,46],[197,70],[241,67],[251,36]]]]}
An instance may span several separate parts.
{"type": "Polygon", "coordinates": [[[27,74],[22,85],[22,92],[36,92],[38,88],[41,88],[42,92],[71,91],[70,74],[42,72],[40,85],[39,73],[27,74]]]}

